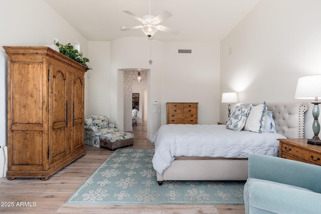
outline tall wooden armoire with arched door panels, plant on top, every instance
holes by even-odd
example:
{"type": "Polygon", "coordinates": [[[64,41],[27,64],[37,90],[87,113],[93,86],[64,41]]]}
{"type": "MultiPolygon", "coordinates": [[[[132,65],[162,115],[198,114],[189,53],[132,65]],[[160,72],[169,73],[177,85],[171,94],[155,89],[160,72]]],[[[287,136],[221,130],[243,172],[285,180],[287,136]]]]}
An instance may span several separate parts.
{"type": "Polygon", "coordinates": [[[48,47],[3,48],[8,55],[7,178],[49,179],[86,153],[87,68],[48,47]]]}

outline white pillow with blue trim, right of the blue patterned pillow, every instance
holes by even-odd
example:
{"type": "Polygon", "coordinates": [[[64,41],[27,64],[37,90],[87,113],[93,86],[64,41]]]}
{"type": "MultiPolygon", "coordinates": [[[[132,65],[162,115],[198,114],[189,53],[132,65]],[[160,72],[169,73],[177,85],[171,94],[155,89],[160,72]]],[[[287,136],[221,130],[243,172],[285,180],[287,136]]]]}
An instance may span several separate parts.
{"type": "Polygon", "coordinates": [[[244,130],[262,133],[266,119],[266,103],[253,105],[247,117],[244,130]]]}

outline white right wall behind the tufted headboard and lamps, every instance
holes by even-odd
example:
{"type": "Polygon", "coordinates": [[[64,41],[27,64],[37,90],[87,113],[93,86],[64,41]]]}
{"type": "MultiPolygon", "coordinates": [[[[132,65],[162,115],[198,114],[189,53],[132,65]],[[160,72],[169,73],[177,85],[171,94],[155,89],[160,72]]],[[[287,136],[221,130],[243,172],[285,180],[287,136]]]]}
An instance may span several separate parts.
{"type": "MultiPolygon", "coordinates": [[[[294,93],[299,77],[321,74],[320,10],[319,0],[261,0],[221,42],[221,94],[237,92],[239,102],[309,103],[294,93]]],[[[227,120],[226,104],[220,120],[227,120]]]]}

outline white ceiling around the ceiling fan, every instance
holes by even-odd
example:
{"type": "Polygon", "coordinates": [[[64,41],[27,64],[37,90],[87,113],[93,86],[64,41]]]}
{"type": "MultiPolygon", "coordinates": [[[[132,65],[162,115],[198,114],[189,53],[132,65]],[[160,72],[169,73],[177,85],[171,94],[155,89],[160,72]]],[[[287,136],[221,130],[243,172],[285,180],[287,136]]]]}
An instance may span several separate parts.
{"type": "MultiPolygon", "coordinates": [[[[45,0],[88,41],[146,37],[139,30],[120,31],[141,23],[123,11],[143,17],[149,0],[45,0]]],[[[161,25],[178,35],[158,31],[154,39],[172,42],[220,42],[260,0],[150,0],[150,14],[169,11],[161,25]]],[[[147,38],[147,37],[146,37],[147,38]]]]}

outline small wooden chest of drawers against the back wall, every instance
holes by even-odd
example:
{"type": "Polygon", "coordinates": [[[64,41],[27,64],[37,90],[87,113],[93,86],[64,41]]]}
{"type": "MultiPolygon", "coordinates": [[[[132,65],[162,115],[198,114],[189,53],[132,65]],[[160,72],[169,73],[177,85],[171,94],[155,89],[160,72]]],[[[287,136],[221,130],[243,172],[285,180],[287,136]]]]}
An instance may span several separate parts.
{"type": "Polygon", "coordinates": [[[166,103],[167,124],[197,124],[198,103],[166,103]]]}

